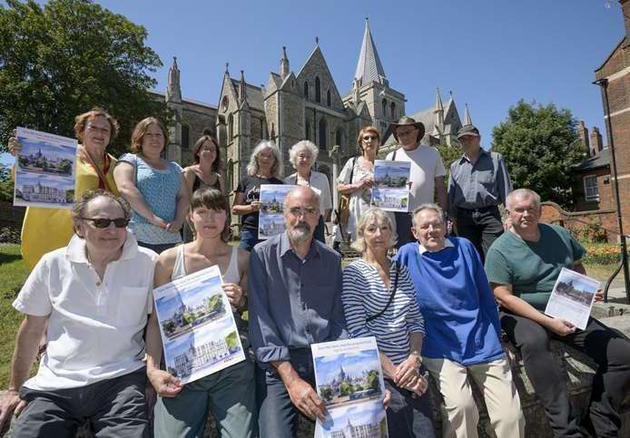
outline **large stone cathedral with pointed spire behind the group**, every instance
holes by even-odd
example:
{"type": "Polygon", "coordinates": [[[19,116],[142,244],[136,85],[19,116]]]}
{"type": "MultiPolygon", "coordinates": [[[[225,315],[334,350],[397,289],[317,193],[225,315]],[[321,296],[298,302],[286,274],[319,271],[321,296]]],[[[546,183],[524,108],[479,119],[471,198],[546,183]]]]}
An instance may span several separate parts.
{"type": "MultiPolygon", "coordinates": [[[[217,106],[182,98],[176,58],[169,71],[166,93],[153,95],[165,100],[175,114],[169,127],[167,158],[188,165],[192,162],[194,142],[204,133],[215,133],[230,192],[245,174],[251,151],[261,140],[273,140],[279,146],[285,175],[293,171],[290,147],[300,140],[313,141],[320,148],[315,166],[327,174],[331,184],[338,166],[358,153],[357,137],[366,125],[376,126],[383,134],[384,147],[379,155],[396,147],[390,124],[406,114],[424,122],[424,144],[457,146],[462,122],[452,93],[444,105],[437,90],[434,106],[408,114],[405,94],[389,84],[368,19],[357,68],[349,83],[351,90],[345,95],[330,74],[317,38],[297,73],[291,70],[287,49],[283,47],[279,71],[269,74],[266,85],[248,83],[243,71],[232,77],[228,67],[226,64],[217,106]]],[[[465,117],[465,122],[469,122],[468,105],[465,117]]]]}

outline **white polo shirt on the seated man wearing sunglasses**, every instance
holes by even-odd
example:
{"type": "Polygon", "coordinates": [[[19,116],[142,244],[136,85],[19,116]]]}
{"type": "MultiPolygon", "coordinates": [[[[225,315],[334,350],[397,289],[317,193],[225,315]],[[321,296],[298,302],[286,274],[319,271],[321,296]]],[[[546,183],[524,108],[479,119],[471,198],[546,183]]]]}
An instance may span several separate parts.
{"type": "Polygon", "coordinates": [[[121,257],[107,265],[101,281],[82,238],[44,255],[13,303],[26,315],[48,316],[48,346],[25,386],[81,387],[142,368],[155,258],[127,233],[121,257]]]}

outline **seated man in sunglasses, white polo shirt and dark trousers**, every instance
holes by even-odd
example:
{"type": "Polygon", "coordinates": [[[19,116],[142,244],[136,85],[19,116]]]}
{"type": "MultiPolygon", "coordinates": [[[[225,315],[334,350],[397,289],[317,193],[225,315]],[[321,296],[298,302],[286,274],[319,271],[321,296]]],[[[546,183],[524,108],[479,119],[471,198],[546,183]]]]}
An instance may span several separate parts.
{"type": "Polygon", "coordinates": [[[15,437],[74,436],[86,420],[95,436],[149,436],[143,332],[156,255],[127,232],[130,216],[112,193],[85,192],[72,211],[76,235],[26,279],[13,303],[25,320],[0,430],[17,409],[15,437]],[[48,346],[29,378],[44,333],[48,346]]]}

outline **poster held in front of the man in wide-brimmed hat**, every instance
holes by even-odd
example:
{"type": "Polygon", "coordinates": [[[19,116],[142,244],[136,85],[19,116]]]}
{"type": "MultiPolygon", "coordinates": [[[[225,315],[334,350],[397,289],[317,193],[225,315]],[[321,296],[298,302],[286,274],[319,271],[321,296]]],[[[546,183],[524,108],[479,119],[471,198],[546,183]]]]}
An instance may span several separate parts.
{"type": "Polygon", "coordinates": [[[371,205],[386,211],[409,210],[409,161],[374,161],[371,205]]]}

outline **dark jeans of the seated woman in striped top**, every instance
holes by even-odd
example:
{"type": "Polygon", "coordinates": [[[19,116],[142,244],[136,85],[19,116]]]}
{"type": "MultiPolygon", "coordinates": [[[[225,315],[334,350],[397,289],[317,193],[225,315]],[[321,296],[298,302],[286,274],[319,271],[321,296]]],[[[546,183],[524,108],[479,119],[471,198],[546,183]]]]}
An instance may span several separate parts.
{"type": "Polygon", "coordinates": [[[387,410],[388,432],[391,438],[435,438],[435,420],[430,390],[417,396],[385,380],[391,392],[387,410]]]}

